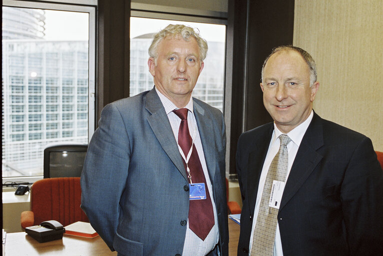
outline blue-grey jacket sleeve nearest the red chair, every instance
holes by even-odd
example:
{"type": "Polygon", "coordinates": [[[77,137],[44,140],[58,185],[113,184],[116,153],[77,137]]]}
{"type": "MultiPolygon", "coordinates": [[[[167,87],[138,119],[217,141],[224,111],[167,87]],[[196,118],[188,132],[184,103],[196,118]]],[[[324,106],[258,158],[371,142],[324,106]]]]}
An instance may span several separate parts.
{"type": "Polygon", "coordinates": [[[114,104],[105,106],[94,132],[81,175],[81,207],[92,226],[113,249],[119,202],[128,177],[130,142],[114,104]]]}

